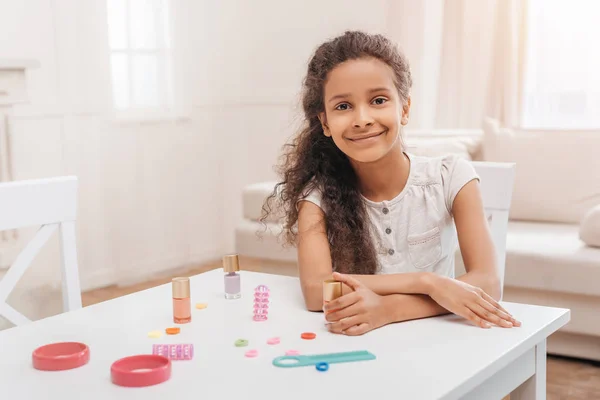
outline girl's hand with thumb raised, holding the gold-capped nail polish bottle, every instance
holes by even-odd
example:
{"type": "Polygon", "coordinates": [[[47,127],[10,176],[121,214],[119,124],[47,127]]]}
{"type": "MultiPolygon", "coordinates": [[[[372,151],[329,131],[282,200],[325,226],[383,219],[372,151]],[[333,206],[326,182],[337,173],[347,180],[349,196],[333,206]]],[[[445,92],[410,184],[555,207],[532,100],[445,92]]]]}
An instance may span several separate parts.
{"type": "Polygon", "coordinates": [[[384,296],[351,276],[334,272],[333,279],[346,284],[352,292],[323,306],[329,332],[358,336],[391,322],[384,309],[384,296]]]}

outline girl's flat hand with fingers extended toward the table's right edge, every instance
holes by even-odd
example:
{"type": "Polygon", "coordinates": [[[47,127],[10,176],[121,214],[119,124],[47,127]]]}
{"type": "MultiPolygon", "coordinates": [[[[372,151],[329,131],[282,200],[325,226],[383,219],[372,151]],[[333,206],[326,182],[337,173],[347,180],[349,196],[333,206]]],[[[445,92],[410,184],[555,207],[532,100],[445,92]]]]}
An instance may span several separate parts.
{"type": "Polygon", "coordinates": [[[521,323],[491,296],[466,282],[436,276],[429,296],[446,310],[482,328],[490,328],[490,323],[504,328],[521,326],[521,323]]]}

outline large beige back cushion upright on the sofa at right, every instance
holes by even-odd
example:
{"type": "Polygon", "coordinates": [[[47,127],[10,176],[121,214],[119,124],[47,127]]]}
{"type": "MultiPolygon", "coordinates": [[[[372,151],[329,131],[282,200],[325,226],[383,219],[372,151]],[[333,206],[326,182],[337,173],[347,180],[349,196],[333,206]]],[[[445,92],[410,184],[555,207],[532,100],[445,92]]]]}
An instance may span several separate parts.
{"type": "Polygon", "coordinates": [[[484,124],[485,161],[517,164],[512,220],[579,224],[600,204],[600,132],[522,131],[484,124]]]}

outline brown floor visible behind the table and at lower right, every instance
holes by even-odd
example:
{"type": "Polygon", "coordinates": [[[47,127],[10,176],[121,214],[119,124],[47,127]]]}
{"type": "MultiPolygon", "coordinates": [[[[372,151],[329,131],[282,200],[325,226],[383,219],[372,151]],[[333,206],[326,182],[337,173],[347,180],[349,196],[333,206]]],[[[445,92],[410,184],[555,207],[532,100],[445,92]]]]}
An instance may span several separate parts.
{"type": "MultiPolygon", "coordinates": [[[[242,269],[283,275],[296,275],[292,266],[283,267],[265,260],[241,258],[242,269]]],[[[220,267],[220,262],[208,263],[187,271],[178,272],[178,276],[192,276],[220,267]]],[[[171,276],[157,278],[129,287],[110,286],[83,294],[84,306],[99,303],[168,283],[171,276]]],[[[600,400],[600,364],[581,360],[548,357],[548,400],[600,400]]]]}

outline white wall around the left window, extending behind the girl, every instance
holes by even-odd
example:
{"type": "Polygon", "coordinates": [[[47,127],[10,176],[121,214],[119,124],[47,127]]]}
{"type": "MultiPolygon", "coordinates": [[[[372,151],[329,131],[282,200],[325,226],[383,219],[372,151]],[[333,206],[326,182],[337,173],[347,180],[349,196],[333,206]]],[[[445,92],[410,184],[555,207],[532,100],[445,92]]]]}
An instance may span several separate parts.
{"type": "MultiPolygon", "coordinates": [[[[233,251],[241,190],[276,177],[311,52],[346,29],[385,32],[389,10],[388,0],[173,3],[187,114],[140,124],[111,117],[103,0],[0,0],[10,38],[0,54],[41,62],[31,104],[11,119],[14,178],[79,177],[84,289],[233,251]]],[[[49,247],[30,277],[57,288],[49,247]]]]}

